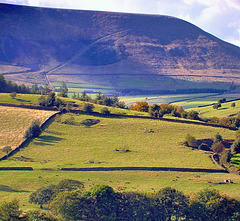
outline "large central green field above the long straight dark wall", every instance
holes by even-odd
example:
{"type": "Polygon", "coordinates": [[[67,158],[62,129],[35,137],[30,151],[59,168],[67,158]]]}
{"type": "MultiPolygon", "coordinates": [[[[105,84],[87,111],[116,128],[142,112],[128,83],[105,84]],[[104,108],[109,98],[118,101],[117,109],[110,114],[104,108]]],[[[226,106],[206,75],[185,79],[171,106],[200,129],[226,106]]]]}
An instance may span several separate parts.
{"type": "MultiPolygon", "coordinates": [[[[69,118],[71,114],[63,115],[69,118]]],[[[111,119],[73,115],[75,122],[100,120],[91,127],[54,122],[10,160],[0,166],[32,166],[34,169],[62,167],[163,166],[218,168],[209,153],[180,144],[187,133],[197,139],[213,138],[218,132],[224,139],[234,132],[223,128],[163,122],[147,119],[111,119]],[[154,133],[148,133],[149,129],[154,133]],[[116,151],[129,149],[130,152],[116,151]],[[24,156],[33,162],[15,161],[24,156]]]]}

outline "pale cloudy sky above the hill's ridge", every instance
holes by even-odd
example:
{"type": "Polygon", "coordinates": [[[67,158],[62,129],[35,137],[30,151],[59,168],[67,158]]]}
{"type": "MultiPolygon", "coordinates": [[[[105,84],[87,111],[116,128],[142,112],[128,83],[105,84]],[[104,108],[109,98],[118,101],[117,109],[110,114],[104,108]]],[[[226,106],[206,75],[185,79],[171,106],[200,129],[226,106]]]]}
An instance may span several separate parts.
{"type": "Polygon", "coordinates": [[[41,7],[170,15],[240,46],[240,0],[0,0],[41,7]]]}

